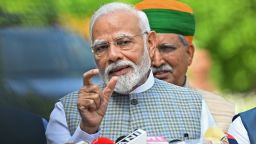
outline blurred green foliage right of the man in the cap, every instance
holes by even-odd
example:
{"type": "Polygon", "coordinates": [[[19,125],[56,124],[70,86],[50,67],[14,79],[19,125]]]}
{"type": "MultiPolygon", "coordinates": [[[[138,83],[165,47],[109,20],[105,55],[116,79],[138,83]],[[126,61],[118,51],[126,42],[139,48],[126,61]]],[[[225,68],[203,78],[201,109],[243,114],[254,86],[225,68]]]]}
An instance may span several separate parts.
{"type": "Polygon", "coordinates": [[[255,91],[256,2],[183,1],[194,9],[197,45],[213,57],[213,79],[227,92],[255,91]]]}

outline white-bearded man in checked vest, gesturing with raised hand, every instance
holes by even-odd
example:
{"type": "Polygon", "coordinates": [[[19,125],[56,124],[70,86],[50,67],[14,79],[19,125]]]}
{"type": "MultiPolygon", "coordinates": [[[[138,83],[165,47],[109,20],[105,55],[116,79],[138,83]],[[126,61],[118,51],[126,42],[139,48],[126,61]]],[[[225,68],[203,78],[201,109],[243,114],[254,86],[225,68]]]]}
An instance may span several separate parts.
{"type": "Polygon", "coordinates": [[[199,139],[214,125],[200,94],[154,79],[150,70],[156,35],[146,15],[123,3],[95,12],[90,23],[98,69],[84,74],[79,92],[55,105],[46,130],[48,143],[113,140],[141,128],[169,141],[199,139]],[[100,74],[105,84],[91,78],[100,74]]]}

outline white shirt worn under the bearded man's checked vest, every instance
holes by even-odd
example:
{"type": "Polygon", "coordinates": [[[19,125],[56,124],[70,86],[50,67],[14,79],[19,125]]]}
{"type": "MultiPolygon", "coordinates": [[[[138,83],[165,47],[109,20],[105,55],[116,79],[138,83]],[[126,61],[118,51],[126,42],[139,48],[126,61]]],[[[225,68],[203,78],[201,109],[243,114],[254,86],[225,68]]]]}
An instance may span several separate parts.
{"type": "MultiPolygon", "coordinates": [[[[148,89],[150,89],[154,85],[154,76],[153,73],[150,72],[150,75],[147,81],[133,90],[131,93],[141,93],[148,89]]],[[[202,100],[202,114],[201,114],[201,137],[209,127],[213,127],[215,122],[213,120],[212,115],[210,114],[208,107],[204,100],[202,100]]],[[[94,139],[100,136],[100,131],[95,134],[87,134],[86,132],[80,129],[80,126],[77,126],[76,131],[71,136],[65,111],[61,102],[57,102],[55,104],[55,108],[53,109],[50,120],[46,129],[46,137],[48,144],[64,144],[64,143],[77,143],[80,141],[92,142],[94,139]]],[[[115,140],[114,140],[115,141],[115,140]]]]}

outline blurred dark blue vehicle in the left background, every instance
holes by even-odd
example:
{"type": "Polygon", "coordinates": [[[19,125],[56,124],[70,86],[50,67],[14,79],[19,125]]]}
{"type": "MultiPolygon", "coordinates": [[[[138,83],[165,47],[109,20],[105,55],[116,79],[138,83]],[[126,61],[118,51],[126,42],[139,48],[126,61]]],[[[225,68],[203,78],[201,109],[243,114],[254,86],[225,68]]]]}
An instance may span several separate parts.
{"type": "Polygon", "coordinates": [[[79,90],[83,73],[92,68],[89,44],[77,34],[60,28],[0,29],[0,95],[56,100],[79,90]]]}

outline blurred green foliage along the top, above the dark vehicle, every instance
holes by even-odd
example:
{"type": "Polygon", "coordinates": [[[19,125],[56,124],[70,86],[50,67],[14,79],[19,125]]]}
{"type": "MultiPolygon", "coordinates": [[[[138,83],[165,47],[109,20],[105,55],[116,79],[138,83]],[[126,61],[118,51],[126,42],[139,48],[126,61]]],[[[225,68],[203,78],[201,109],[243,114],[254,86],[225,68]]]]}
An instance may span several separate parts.
{"type": "MultiPolygon", "coordinates": [[[[103,4],[114,0],[10,0],[0,1],[0,26],[47,26],[59,23],[60,16],[69,14],[89,17],[103,4]]],[[[134,2],[135,0],[116,0],[134,2]]]]}

